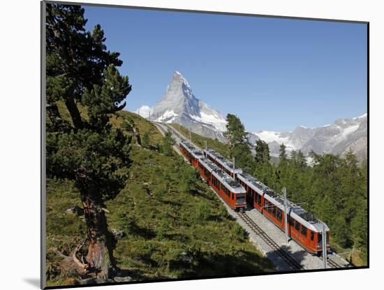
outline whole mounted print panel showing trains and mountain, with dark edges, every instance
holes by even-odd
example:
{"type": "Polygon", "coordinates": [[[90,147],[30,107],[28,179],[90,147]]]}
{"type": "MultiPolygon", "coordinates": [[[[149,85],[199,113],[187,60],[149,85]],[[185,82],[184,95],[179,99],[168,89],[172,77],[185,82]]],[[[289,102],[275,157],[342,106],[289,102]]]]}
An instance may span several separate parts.
{"type": "Polygon", "coordinates": [[[368,268],[368,29],[43,1],[42,287],[368,268]]]}

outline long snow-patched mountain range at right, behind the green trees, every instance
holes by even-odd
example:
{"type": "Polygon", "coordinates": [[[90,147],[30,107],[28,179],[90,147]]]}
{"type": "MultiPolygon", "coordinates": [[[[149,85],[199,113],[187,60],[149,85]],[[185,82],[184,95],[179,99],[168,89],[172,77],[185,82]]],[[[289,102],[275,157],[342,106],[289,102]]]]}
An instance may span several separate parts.
{"type": "Polygon", "coordinates": [[[318,128],[297,126],[291,132],[260,131],[249,133],[249,143],[265,140],[273,156],[279,155],[284,143],[287,152],[302,150],[306,155],[316,153],[344,154],[350,147],[359,159],[367,157],[367,114],[353,119],[337,119],[333,124],[318,128]]]}

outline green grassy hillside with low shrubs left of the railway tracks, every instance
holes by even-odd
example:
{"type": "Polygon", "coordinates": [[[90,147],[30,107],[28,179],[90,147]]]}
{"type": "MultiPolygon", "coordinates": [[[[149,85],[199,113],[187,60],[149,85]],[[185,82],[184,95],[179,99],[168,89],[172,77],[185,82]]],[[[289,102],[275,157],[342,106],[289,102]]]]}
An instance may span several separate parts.
{"type": "MultiPolygon", "coordinates": [[[[64,106],[60,105],[64,113],[64,106]]],[[[84,112],[83,112],[84,113],[84,112]]],[[[119,126],[131,118],[151,145],[161,134],[142,117],[119,112],[119,126]]],[[[117,266],[129,269],[135,280],[212,275],[245,275],[274,270],[251,245],[246,232],[228,215],[219,198],[195,177],[196,189],[183,188],[191,167],[174,154],[133,146],[133,166],[126,187],[106,203],[110,229],[122,231],[117,241],[117,266]]],[[[195,175],[197,176],[197,175],[195,175]]],[[[81,207],[80,194],[68,180],[47,180],[47,284],[74,284],[80,278],[60,252],[71,254],[86,236],[84,217],[67,214],[81,207]]]]}

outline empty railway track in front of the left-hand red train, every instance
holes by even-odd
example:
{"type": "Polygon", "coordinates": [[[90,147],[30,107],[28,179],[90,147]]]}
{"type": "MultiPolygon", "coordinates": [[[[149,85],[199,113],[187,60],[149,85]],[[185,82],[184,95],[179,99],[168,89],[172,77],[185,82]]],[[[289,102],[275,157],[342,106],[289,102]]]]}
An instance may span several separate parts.
{"type": "Polygon", "coordinates": [[[304,270],[304,267],[300,265],[295,259],[293,259],[290,254],[288,254],[286,251],[281,249],[281,247],[274,241],[272,240],[265,231],[263,231],[260,226],[256,224],[256,222],[251,219],[248,215],[246,215],[245,212],[239,212],[237,215],[239,215],[240,219],[251,228],[251,230],[256,233],[271,249],[278,254],[283,261],[285,261],[292,270],[304,270]]]}

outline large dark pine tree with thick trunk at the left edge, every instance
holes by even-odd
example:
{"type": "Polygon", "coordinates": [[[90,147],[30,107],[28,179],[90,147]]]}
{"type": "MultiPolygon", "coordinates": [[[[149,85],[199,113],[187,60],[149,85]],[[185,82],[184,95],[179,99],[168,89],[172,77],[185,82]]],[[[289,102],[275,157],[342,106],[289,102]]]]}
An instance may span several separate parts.
{"type": "Polygon", "coordinates": [[[109,119],[126,106],[131,85],[117,71],[119,54],[106,50],[100,25],[85,31],[81,6],[46,7],[47,177],[75,182],[87,224],[85,263],[107,278],[115,264],[115,240],[108,231],[105,201],[124,188],[131,164],[131,138],[112,129],[109,119]],[[57,101],[65,104],[69,122],[59,114],[57,101]]]}

